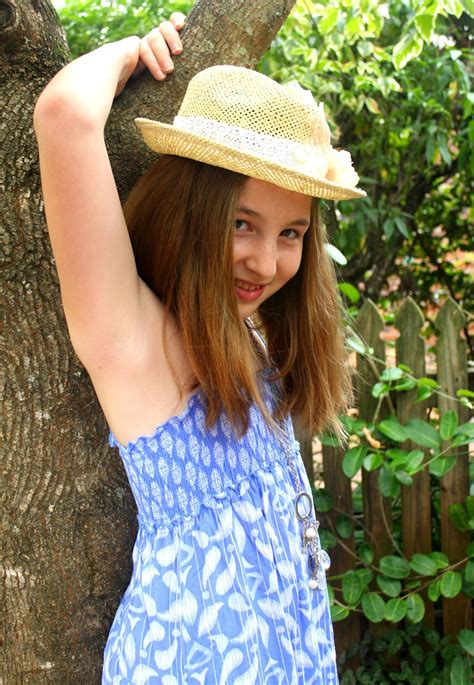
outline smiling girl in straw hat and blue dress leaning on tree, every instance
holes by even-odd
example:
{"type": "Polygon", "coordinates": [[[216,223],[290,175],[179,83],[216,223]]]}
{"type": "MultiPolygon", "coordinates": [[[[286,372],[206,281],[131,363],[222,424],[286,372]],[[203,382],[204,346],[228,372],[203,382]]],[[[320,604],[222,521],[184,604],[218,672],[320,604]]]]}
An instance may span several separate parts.
{"type": "Polygon", "coordinates": [[[309,93],[213,67],[119,202],[103,129],[184,17],[66,66],[35,110],[74,348],[132,486],[134,569],[103,683],[337,682],[310,485],[290,411],[339,431],[350,397],[319,202],[359,197],[309,93]],[[265,342],[264,342],[265,341],[265,342]]]}

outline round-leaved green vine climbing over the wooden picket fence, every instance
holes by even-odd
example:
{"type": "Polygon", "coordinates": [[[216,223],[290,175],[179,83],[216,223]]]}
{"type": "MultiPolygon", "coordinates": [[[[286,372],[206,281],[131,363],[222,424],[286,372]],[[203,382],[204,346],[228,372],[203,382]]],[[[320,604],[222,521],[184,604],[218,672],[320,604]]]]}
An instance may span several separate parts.
{"type": "MultiPolygon", "coordinates": [[[[363,351],[363,343],[356,340],[358,352],[363,351]]],[[[365,349],[365,354],[371,351],[365,349]]],[[[429,378],[416,378],[411,370],[400,365],[385,368],[372,388],[372,395],[379,402],[390,397],[392,406],[396,396],[407,391],[416,392],[424,401],[439,392],[436,381],[429,378]],[[422,391],[420,394],[420,390],[422,391]]],[[[454,398],[452,398],[454,399],[454,398]]],[[[458,393],[458,406],[466,405],[472,409],[471,393],[458,393]]],[[[456,561],[450,560],[440,551],[440,478],[454,468],[456,460],[465,458],[468,446],[474,440],[474,424],[461,423],[455,410],[444,412],[441,416],[427,414],[425,420],[409,419],[403,425],[395,415],[379,420],[378,410],[373,420],[366,421],[359,416],[345,416],[343,422],[349,435],[342,470],[349,478],[353,492],[353,516],[335,512],[329,529],[320,529],[321,541],[326,549],[344,544],[350,535],[355,541],[355,567],[345,571],[341,577],[329,577],[331,587],[332,616],[334,621],[346,618],[351,612],[362,614],[370,624],[382,621],[398,624],[405,621],[404,630],[387,633],[383,640],[373,642],[366,638],[348,654],[341,658],[341,668],[345,659],[356,655],[362,657],[363,666],[355,671],[346,669],[342,683],[391,683],[410,680],[414,683],[464,683],[470,682],[470,658],[474,650],[474,632],[461,630],[457,636],[457,646],[449,644],[449,637],[440,640],[435,631],[422,629],[426,603],[438,607],[443,598],[452,599],[463,592],[474,598],[474,544],[466,547],[465,556],[456,561]],[[410,447],[405,447],[405,441],[410,447]],[[361,514],[362,471],[376,471],[378,490],[390,499],[393,515],[391,532],[393,552],[375,561],[372,545],[367,541],[361,514]],[[428,470],[431,476],[432,499],[432,544],[430,553],[414,553],[407,557],[401,551],[401,488],[410,487],[416,474],[428,470]],[[351,520],[352,519],[352,520],[351,520]],[[335,521],[335,523],[334,523],[335,521]],[[422,638],[427,635],[434,640],[433,649],[428,656],[418,659],[422,638]],[[415,636],[416,637],[415,639],[415,636]],[[421,642],[420,642],[421,641],[421,642]],[[387,655],[397,655],[397,668],[387,655]]],[[[323,437],[323,444],[334,446],[334,438],[323,437]]],[[[471,475],[472,480],[472,475],[471,475]]],[[[333,509],[331,494],[322,491],[315,496],[322,520],[333,509]]],[[[474,531],[474,496],[459,501],[450,507],[449,515],[453,526],[459,531],[474,531]]],[[[451,636],[452,639],[452,636],[451,636]]]]}

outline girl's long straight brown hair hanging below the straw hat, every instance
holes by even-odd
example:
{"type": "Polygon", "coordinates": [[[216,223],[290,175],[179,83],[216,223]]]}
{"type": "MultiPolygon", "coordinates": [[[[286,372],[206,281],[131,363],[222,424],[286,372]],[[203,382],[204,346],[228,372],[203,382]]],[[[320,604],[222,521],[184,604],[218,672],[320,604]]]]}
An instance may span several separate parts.
{"type": "MultiPolygon", "coordinates": [[[[194,386],[208,401],[208,425],[224,410],[240,430],[252,402],[270,418],[258,380],[262,358],[240,318],[233,283],[235,212],[246,180],[163,155],[124,205],[138,272],[178,323],[194,386]]],[[[255,324],[281,379],[275,418],[292,411],[311,431],[340,432],[337,415],[350,397],[350,380],[318,201],[298,273],[262,304],[255,324]]]]}

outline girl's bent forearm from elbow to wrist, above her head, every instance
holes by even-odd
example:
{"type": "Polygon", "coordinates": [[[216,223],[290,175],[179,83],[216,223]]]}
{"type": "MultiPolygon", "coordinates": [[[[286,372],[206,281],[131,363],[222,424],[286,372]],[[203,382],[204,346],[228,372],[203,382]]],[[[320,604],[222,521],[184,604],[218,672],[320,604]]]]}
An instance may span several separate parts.
{"type": "MultiPolygon", "coordinates": [[[[140,39],[131,36],[74,60],[56,74],[35,108],[35,129],[41,135],[62,122],[75,120],[103,129],[117,91],[133,73],[140,39]]],[[[70,131],[69,131],[70,134],[70,131]]]]}

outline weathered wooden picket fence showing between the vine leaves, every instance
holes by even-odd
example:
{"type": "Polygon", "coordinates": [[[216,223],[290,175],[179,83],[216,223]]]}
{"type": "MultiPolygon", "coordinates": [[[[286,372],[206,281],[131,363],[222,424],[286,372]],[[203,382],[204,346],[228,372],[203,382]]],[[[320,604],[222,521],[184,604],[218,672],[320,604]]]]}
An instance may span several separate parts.
{"type": "MultiPolygon", "coordinates": [[[[395,343],[396,364],[406,364],[412,369],[416,377],[425,377],[425,344],[420,335],[424,319],[418,306],[412,299],[407,299],[400,308],[395,319],[395,327],[400,335],[395,343]]],[[[437,405],[442,415],[450,409],[459,414],[460,422],[469,420],[468,409],[456,400],[456,390],[468,387],[468,371],[466,359],[466,344],[460,335],[465,324],[465,318],[458,305],[453,300],[447,300],[440,309],[435,327],[436,342],[436,377],[440,393],[435,393],[425,402],[416,403],[416,389],[408,392],[396,393],[396,417],[401,424],[408,419],[426,419],[430,407],[437,405]]],[[[370,359],[359,356],[357,359],[356,397],[359,416],[366,421],[372,421],[378,400],[371,394],[373,384],[378,374],[385,368],[386,345],[380,337],[384,328],[383,319],[376,306],[367,300],[359,312],[356,330],[366,345],[373,349],[370,359]],[[380,361],[375,361],[380,360],[380,361]]],[[[392,352],[393,355],[393,352],[392,352]]],[[[393,365],[393,360],[392,360],[393,365]]],[[[389,411],[384,402],[379,407],[378,419],[388,415],[389,411]]],[[[412,449],[409,441],[401,445],[403,449],[412,449]]],[[[340,514],[353,516],[352,483],[342,471],[344,450],[337,447],[323,447],[322,471],[324,487],[331,494],[334,508],[327,515],[321,515],[322,526],[335,531],[335,520],[340,514]]],[[[428,450],[426,450],[428,454],[428,450]]],[[[425,457],[427,458],[427,454],[425,457]]],[[[303,446],[303,458],[311,473],[313,469],[312,445],[306,442],[303,446]]],[[[379,469],[368,472],[362,471],[363,492],[363,527],[365,537],[372,545],[375,556],[373,563],[384,556],[394,553],[392,536],[391,500],[385,498],[378,487],[379,469]]],[[[441,479],[441,551],[450,562],[454,563],[465,557],[469,534],[459,532],[451,522],[449,506],[452,503],[464,501],[469,490],[468,456],[456,459],[454,468],[441,479]]],[[[428,469],[413,476],[411,486],[402,486],[401,494],[401,536],[402,551],[407,559],[415,553],[429,554],[432,551],[432,512],[430,495],[430,474],[428,469]]],[[[338,576],[348,570],[356,568],[356,544],[354,534],[344,540],[338,539],[337,547],[330,550],[330,576],[338,576]]],[[[336,588],[337,588],[336,584],[336,588]]],[[[340,584],[339,584],[340,587],[340,584]]],[[[377,588],[375,588],[377,589],[377,588]]],[[[341,595],[336,590],[336,597],[341,595]]],[[[435,617],[433,603],[425,601],[426,613],[424,622],[430,627],[440,628],[441,620],[435,617]]],[[[453,599],[444,599],[442,606],[442,632],[445,635],[455,634],[461,628],[470,625],[470,600],[463,594],[453,599]]],[[[359,642],[367,628],[367,621],[361,612],[351,612],[347,618],[334,624],[336,646],[342,653],[359,642]]],[[[386,624],[372,624],[371,632],[377,637],[386,630],[386,624]]]]}

